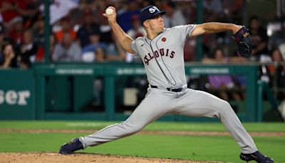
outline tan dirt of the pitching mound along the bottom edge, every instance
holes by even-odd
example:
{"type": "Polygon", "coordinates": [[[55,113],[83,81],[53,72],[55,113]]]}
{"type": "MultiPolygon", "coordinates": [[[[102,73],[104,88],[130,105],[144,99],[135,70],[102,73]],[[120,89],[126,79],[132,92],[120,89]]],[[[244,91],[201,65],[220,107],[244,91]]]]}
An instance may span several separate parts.
{"type": "MultiPolygon", "coordinates": [[[[57,153],[46,153],[46,152],[23,152],[23,153],[11,153],[11,152],[1,152],[0,162],[115,162],[115,163],[138,163],[138,162],[157,162],[157,163],[167,163],[167,162],[198,162],[180,159],[158,159],[158,158],[145,158],[145,157],[126,157],[126,156],[114,156],[114,155],[103,155],[103,154],[57,154],[57,153]]],[[[199,161],[201,163],[201,161],[199,161]]],[[[209,162],[207,162],[209,163],[209,162]]],[[[214,162],[212,162],[214,163],[214,162]]]]}

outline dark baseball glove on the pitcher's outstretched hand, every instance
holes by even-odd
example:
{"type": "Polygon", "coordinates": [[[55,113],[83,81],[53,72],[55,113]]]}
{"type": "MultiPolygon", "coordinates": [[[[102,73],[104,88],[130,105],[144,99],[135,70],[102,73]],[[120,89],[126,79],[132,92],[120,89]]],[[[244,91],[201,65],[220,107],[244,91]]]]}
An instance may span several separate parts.
{"type": "Polygon", "coordinates": [[[242,26],[239,31],[237,31],[236,34],[232,36],[234,41],[237,42],[237,52],[239,56],[249,58],[251,52],[252,52],[252,44],[251,39],[249,36],[249,29],[247,29],[245,26],[242,26]],[[247,36],[244,36],[244,34],[247,33],[247,36]]]}

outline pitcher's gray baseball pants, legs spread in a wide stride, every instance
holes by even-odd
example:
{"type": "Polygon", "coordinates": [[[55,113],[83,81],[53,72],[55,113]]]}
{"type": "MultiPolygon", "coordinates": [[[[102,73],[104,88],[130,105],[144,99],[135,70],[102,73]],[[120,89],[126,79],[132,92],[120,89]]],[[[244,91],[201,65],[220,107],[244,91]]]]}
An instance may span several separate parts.
{"type": "Polygon", "coordinates": [[[165,114],[181,114],[191,117],[217,117],[234,137],[242,153],[257,151],[252,137],[244,129],[228,102],[207,92],[184,89],[170,92],[149,88],[145,99],[133,114],[120,124],[113,124],[86,137],[80,137],[83,147],[96,146],[140,132],[147,124],[165,114]]]}

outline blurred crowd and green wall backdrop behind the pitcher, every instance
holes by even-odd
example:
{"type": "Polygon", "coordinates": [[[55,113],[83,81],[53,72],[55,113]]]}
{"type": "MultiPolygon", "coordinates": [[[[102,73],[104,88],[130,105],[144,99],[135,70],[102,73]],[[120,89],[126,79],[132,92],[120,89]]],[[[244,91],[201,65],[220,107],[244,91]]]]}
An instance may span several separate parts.
{"type": "MultiPolygon", "coordinates": [[[[284,122],[285,2],[281,0],[1,0],[0,119],[126,119],[143,99],[140,59],[123,51],[102,16],[108,6],[135,39],[142,7],[167,11],[165,26],[244,24],[252,56],[230,33],[185,42],[188,87],[225,99],[243,122],[284,122]]],[[[160,120],[207,122],[169,115],[160,120]]]]}

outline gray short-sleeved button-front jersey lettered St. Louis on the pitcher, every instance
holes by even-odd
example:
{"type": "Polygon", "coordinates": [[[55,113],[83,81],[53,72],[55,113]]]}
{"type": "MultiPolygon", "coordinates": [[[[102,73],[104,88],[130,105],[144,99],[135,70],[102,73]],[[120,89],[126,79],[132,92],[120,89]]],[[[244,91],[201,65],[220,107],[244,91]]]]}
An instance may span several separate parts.
{"type": "Polygon", "coordinates": [[[184,45],[195,29],[194,24],[164,29],[155,39],[138,37],[131,48],[145,66],[149,84],[164,88],[180,88],[187,84],[184,45]]]}

